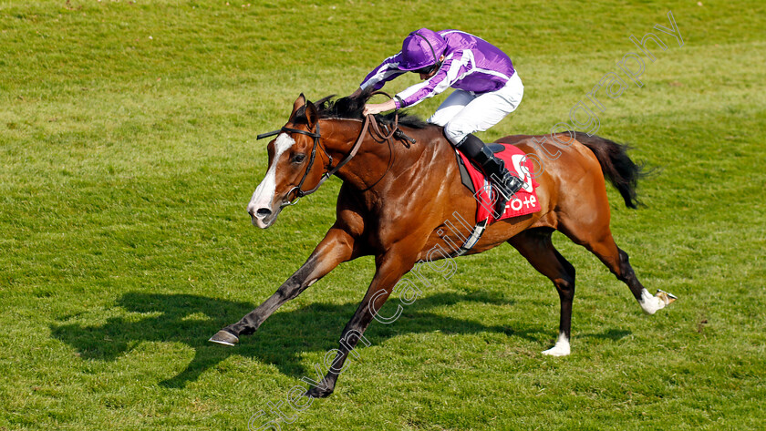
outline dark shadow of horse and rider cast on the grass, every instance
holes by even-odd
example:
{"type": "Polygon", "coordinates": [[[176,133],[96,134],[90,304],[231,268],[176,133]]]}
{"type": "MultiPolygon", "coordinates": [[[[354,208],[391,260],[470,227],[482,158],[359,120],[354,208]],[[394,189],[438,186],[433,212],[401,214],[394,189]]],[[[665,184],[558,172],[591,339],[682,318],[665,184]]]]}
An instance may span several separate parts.
{"type": "MultiPolygon", "coordinates": [[[[393,299],[393,298],[392,298],[393,299]]],[[[492,332],[541,341],[547,338],[543,328],[511,330],[502,324],[485,325],[471,320],[447,317],[428,310],[471,301],[478,303],[512,303],[488,293],[438,293],[421,297],[404,308],[400,318],[390,324],[373,324],[366,337],[373,344],[398,334],[440,330],[445,333],[476,334],[492,332]]],[[[393,302],[393,301],[392,301],[393,302]]],[[[336,348],[340,332],[357,309],[357,303],[311,303],[289,312],[276,312],[253,335],[243,336],[240,344],[225,347],[208,343],[208,338],[228,323],[236,322],[253,309],[251,303],[206,298],[188,294],[129,292],[117,303],[131,313],[110,317],[102,325],[54,323],[51,334],[77,349],[87,360],[114,361],[142,342],[179,342],[190,346],[195,354],[179,375],[160,382],[167,387],[183,387],[202,372],[214,367],[232,354],[254,357],[274,364],[281,373],[299,378],[313,372],[302,361],[306,352],[326,352],[336,348]]],[[[387,305],[381,315],[390,315],[396,305],[387,305]]],[[[514,323],[516,324],[516,323],[514,323]]]]}

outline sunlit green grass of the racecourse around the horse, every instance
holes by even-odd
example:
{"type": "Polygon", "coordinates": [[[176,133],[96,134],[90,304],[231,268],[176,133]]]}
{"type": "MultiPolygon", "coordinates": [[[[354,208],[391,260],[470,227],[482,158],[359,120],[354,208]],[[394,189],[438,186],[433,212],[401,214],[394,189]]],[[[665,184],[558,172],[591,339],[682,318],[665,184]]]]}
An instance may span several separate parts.
{"type": "Polygon", "coordinates": [[[351,93],[420,26],[512,56],[523,103],[482,137],[544,133],[668,9],[685,45],[657,33],[668,50],[605,102],[598,134],[660,168],[646,208],[609,190],[613,231],[678,303],[645,316],[557,235],[578,291],[573,354],[550,358],[550,282],[510,247],[463,258],[396,323],[372,324],[336,393],[282,426],[766,427],[762,2],[225,3],[0,1],[0,430],[246,429],[315,376],[372,275],[369,258],[344,264],[242,344],[206,342],[334,221],[338,180],[250,225],[257,133],[301,92],[351,93]]]}

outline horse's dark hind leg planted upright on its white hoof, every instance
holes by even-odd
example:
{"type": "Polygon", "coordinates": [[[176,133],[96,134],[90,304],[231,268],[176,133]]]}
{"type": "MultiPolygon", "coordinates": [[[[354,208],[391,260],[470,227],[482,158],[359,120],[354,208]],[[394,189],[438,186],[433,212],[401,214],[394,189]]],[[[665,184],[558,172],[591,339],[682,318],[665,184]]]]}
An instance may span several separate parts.
{"type": "Polygon", "coordinates": [[[516,248],[535,270],[554,282],[561,299],[559,336],[553,348],[543,352],[554,356],[569,354],[572,331],[572,302],[574,300],[574,266],[561,255],[551,241],[552,229],[537,228],[523,231],[508,243],[516,248]]]}

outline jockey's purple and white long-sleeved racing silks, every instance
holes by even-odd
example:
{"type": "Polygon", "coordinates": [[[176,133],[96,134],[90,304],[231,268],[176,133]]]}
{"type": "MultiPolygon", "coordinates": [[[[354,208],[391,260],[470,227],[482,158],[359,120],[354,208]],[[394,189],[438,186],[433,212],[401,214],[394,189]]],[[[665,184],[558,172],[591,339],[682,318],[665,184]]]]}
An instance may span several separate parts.
{"type": "MultiPolygon", "coordinates": [[[[395,97],[397,108],[417,105],[423,99],[434,97],[449,87],[471,91],[474,94],[496,91],[513,75],[511,58],[489,42],[458,30],[437,32],[447,42],[444,63],[436,75],[409,87],[395,97]]],[[[405,73],[399,69],[401,52],[389,56],[370,72],[359,85],[377,90],[395,77],[405,73]]]]}

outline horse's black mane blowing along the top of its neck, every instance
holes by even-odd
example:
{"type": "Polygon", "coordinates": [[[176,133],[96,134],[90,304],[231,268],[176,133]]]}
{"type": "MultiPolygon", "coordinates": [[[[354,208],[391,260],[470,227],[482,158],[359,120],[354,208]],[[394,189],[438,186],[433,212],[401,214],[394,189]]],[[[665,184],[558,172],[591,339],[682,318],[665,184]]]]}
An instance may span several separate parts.
{"type": "MultiPolygon", "coordinates": [[[[330,95],[320,98],[314,105],[316,106],[319,118],[364,119],[362,111],[367,100],[372,96],[371,91],[365,91],[359,97],[340,97],[334,99],[335,95],[330,95]]],[[[378,114],[375,117],[378,118],[378,122],[391,124],[394,122],[395,115],[394,112],[391,112],[386,115],[378,114]]],[[[305,106],[295,112],[293,121],[298,123],[308,122],[305,118],[305,106]]],[[[425,128],[428,126],[428,123],[416,115],[399,111],[399,125],[410,128],[425,128]]]]}

